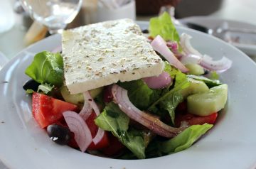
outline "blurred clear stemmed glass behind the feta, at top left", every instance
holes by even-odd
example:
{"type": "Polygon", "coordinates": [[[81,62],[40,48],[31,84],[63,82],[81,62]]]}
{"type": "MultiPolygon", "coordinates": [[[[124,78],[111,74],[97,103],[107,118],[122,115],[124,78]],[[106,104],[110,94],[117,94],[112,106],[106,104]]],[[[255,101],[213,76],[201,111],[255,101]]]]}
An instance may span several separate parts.
{"type": "Polygon", "coordinates": [[[47,26],[53,34],[61,33],[73,21],[82,0],[21,0],[21,4],[33,19],[47,26]]]}

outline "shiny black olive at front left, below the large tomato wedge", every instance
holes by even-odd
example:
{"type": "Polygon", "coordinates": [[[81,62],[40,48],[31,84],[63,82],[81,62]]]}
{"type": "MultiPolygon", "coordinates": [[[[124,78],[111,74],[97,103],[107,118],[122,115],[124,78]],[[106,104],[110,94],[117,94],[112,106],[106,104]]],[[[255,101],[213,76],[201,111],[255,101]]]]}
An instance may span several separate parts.
{"type": "Polygon", "coordinates": [[[48,136],[52,141],[60,145],[66,145],[70,141],[71,131],[68,127],[60,126],[58,124],[51,124],[47,126],[48,136]]]}

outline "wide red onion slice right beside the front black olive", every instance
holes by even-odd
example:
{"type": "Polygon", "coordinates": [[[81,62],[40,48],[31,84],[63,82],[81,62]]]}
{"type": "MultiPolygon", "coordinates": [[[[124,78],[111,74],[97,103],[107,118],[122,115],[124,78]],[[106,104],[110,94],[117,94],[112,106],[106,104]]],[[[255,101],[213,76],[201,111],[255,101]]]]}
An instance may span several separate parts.
{"type": "Polygon", "coordinates": [[[64,111],[64,119],[70,131],[75,134],[75,141],[82,152],[85,152],[92,143],[92,133],[82,117],[75,111],[64,111]]]}

